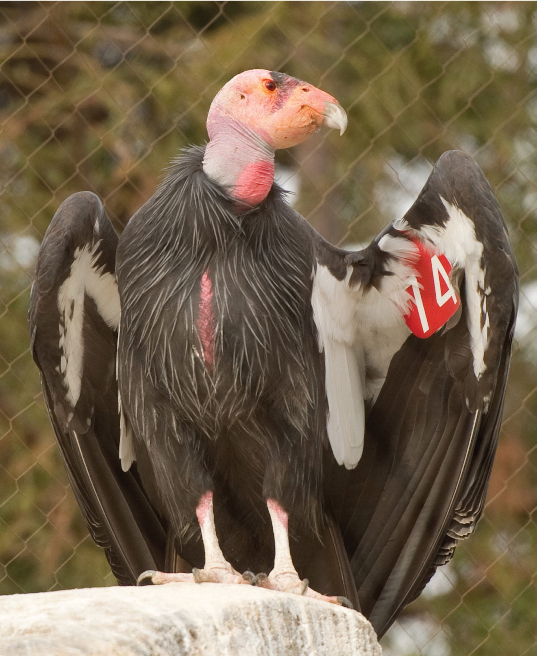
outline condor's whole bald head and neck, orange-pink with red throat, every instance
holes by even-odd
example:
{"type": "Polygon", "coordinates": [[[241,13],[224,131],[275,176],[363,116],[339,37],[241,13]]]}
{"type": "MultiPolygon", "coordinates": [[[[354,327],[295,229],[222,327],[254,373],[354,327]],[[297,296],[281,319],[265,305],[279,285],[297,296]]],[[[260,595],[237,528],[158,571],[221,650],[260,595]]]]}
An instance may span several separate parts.
{"type": "Polygon", "coordinates": [[[273,183],[274,151],[331,125],[327,103],[339,108],[331,95],[285,74],[256,69],[235,76],[209,110],[205,173],[240,202],[239,212],[258,205],[273,183]]]}

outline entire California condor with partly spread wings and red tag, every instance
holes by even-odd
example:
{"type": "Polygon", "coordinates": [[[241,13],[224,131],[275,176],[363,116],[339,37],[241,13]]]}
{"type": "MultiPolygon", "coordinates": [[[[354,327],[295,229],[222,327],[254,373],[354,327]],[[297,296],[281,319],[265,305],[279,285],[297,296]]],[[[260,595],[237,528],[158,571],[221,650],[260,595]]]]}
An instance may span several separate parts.
{"type": "Polygon", "coordinates": [[[273,180],[344,131],[333,97],[246,71],[207,125],[119,240],[88,192],[43,239],[32,353],[74,493],[121,584],[346,598],[382,635],[483,508],[518,302],[498,202],[446,152],[342,250],[273,180]]]}

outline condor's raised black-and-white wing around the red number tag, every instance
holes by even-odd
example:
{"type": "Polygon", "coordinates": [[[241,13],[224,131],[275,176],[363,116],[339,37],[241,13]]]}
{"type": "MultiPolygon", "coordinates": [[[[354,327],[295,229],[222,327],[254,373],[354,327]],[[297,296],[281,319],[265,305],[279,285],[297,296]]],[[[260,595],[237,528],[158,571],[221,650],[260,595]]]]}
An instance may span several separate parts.
{"type": "Polygon", "coordinates": [[[383,635],[475,529],[500,431],[518,273],[475,161],[445,153],[405,217],[362,252],[317,238],[312,305],[330,412],[325,496],[362,612],[383,635]],[[448,258],[461,298],[425,339],[403,318],[417,242],[448,258]]]}

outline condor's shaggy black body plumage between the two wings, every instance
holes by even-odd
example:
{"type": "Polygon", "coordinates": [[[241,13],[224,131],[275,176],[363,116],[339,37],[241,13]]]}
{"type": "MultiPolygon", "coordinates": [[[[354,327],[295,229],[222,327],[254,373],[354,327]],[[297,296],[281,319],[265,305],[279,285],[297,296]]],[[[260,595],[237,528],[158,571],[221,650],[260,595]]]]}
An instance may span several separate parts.
{"type": "Polygon", "coordinates": [[[292,509],[296,532],[323,527],[327,406],[310,302],[314,245],[277,188],[237,217],[201,158],[200,149],[181,158],[122,235],[118,377],[135,449],[145,441],[149,453],[142,481],[148,490],[151,480],[166,482],[152,501],[172,520],[181,555],[202,567],[189,541],[210,489],[217,528],[219,505],[229,515],[228,530],[218,528],[224,553],[239,570],[260,572],[273,559],[268,497],[292,509]],[[214,292],[213,367],[197,332],[204,271],[214,292]],[[228,533],[245,535],[243,545],[228,546],[228,533]]]}

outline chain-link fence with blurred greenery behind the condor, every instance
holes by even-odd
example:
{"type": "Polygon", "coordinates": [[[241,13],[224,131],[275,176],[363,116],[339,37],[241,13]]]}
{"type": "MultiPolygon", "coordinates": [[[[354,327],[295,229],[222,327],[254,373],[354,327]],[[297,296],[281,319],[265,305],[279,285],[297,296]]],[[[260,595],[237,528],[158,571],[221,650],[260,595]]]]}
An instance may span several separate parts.
{"type": "Polygon", "coordinates": [[[28,344],[39,243],[95,191],[118,231],[248,68],[329,91],[349,127],[277,154],[296,208],[365,242],[444,150],[473,155],[521,271],[502,436],[477,533],[383,639],[535,654],[535,3],[0,2],[0,593],[114,585],[68,488],[28,344]]]}

